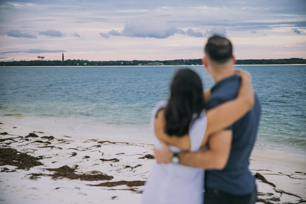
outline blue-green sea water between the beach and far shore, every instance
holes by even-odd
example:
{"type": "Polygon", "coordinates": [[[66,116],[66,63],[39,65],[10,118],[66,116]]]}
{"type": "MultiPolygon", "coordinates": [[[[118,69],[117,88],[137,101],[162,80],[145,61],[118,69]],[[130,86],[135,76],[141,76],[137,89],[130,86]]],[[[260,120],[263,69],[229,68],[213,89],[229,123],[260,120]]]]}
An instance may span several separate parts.
{"type": "MultiPolygon", "coordinates": [[[[0,119],[63,134],[151,141],[151,109],[181,66],[0,67],[0,119]]],[[[196,71],[204,89],[213,81],[196,71]]],[[[252,74],[258,149],[306,157],[306,65],[236,66],[252,74]]]]}

